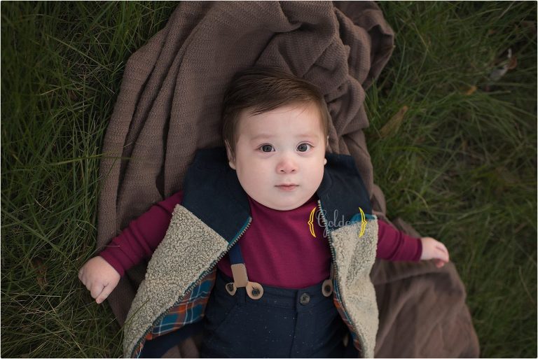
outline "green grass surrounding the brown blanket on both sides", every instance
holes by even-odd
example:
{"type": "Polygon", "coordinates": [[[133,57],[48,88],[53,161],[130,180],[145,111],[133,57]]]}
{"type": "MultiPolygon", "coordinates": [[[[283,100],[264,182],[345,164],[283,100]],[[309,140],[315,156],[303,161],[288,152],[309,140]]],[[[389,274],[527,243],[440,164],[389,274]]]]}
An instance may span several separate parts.
{"type": "MultiPolygon", "coordinates": [[[[1,2],[1,356],[121,356],[76,273],[125,62],[176,5],[1,2]]],[[[380,6],[396,48],[367,134],[389,218],[446,242],[481,356],[536,357],[537,5],[380,6]],[[490,83],[508,48],[517,66],[490,83]]]]}

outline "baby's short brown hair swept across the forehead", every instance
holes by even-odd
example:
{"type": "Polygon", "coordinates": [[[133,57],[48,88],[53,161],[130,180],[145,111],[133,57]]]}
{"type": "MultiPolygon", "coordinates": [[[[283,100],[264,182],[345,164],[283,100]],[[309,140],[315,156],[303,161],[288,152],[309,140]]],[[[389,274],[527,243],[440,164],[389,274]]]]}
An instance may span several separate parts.
{"type": "Polygon", "coordinates": [[[318,87],[277,67],[252,66],[235,73],[224,94],[222,136],[235,159],[240,114],[249,108],[259,115],[289,104],[313,103],[319,109],[324,139],[329,134],[329,110],[318,87]]]}

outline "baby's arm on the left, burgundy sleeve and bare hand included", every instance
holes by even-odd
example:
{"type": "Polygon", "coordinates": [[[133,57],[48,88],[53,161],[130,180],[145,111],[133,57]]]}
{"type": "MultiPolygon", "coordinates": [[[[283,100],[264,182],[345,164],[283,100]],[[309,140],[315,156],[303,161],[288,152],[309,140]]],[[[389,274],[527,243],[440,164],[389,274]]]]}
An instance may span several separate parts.
{"type": "Polygon", "coordinates": [[[127,269],[149,258],[165,237],[172,212],[181,203],[179,191],[149,211],[132,220],[104,251],[86,262],[78,271],[78,279],[90,290],[97,304],[102,303],[118,285],[127,269]]]}

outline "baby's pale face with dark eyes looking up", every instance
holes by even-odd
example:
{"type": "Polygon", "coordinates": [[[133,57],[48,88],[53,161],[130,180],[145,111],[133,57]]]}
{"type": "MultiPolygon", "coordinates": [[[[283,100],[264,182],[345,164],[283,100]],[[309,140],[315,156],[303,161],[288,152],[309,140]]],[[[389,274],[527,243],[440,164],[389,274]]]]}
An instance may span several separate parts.
{"type": "Polygon", "coordinates": [[[322,182],[326,163],[326,138],[315,104],[291,104],[259,115],[243,111],[239,121],[230,167],[245,192],[280,211],[308,201],[322,182]]]}

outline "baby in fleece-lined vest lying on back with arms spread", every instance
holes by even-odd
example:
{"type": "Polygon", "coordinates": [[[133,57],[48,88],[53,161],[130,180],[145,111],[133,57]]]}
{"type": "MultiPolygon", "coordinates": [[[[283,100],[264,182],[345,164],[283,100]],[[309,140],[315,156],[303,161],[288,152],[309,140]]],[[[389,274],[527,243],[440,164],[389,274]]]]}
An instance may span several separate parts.
{"type": "Polygon", "coordinates": [[[203,332],[204,358],[373,357],[375,258],[442,267],[446,247],[372,214],[352,157],[326,153],[330,115],[315,85],[247,69],[230,83],[222,118],[225,147],[199,150],[183,190],[78,273],[99,304],[151,258],[125,356],[162,356],[203,332]]]}

